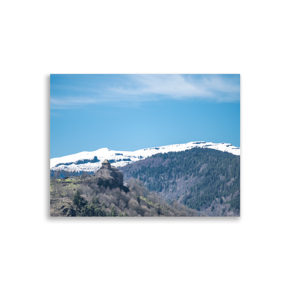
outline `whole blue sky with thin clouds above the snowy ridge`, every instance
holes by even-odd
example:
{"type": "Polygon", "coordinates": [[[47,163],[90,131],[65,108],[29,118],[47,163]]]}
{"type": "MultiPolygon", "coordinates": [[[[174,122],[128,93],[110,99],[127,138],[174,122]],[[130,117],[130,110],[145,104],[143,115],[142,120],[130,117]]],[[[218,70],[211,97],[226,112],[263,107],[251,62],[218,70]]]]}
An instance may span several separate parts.
{"type": "Polygon", "coordinates": [[[50,75],[50,158],[190,141],[240,147],[240,74],[50,75]]]}

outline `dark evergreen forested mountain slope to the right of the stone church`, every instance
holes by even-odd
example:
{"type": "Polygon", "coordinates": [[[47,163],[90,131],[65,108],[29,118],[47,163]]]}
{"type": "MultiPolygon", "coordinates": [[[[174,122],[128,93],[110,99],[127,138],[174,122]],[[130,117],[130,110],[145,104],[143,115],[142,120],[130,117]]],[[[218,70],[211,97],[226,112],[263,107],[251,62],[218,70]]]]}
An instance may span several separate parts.
{"type": "Polygon", "coordinates": [[[124,171],[124,180],[138,178],[169,204],[178,200],[192,209],[214,211],[220,208],[218,201],[224,204],[223,212],[240,212],[240,155],[192,148],[155,154],[119,169],[124,171]]]}

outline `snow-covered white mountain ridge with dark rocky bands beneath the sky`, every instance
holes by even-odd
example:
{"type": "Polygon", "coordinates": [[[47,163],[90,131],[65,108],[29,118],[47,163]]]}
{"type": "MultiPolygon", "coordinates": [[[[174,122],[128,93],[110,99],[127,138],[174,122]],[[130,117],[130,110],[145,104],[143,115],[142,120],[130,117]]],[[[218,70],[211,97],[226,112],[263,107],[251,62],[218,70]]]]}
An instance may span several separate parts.
{"type": "Polygon", "coordinates": [[[166,145],[155,148],[140,149],[137,151],[114,151],[108,148],[101,148],[97,151],[84,151],[77,154],[67,155],[50,159],[50,169],[75,169],[76,171],[94,171],[102,166],[102,161],[107,159],[112,165],[121,167],[127,163],[133,163],[156,153],[167,153],[170,151],[184,151],[193,147],[211,148],[220,151],[240,154],[240,147],[232,144],[213,142],[189,142],[185,144],[166,145]]]}

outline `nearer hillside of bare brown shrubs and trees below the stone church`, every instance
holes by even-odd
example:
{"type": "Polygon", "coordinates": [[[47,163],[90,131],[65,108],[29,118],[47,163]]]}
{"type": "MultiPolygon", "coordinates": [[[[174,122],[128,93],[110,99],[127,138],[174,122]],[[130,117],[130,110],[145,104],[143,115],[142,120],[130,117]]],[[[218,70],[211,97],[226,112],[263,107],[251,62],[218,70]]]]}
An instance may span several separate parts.
{"type": "Polygon", "coordinates": [[[94,177],[76,184],[52,180],[50,195],[53,198],[50,199],[50,216],[198,216],[196,210],[180,205],[177,201],[172,204],[161,201],[160,195],[148,191],[140,180],[131,178],[127,186],[118,187],[112,177],[94,177]]]}

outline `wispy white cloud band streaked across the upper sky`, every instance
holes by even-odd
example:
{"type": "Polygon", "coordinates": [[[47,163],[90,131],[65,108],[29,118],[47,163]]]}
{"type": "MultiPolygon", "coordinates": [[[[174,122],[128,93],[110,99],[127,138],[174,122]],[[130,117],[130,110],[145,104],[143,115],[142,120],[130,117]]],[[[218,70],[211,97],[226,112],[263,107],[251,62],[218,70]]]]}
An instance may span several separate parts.
{"type": "Polygon", "coordinates": [[[135,74],[124,75],[119,83],[106,85],[51,84],[51,108],[71,108],[95,103],[148,102],[164,98],[204,99],[213,102],[239,102],[240,78],[223,75],[135,74]],[[59,93],[63,92],[63,93],[59,93]],[[74,92],[74,94],[70,94],[74,92]],[[80,93],[80,95],[76,96],[80,93]]]}

